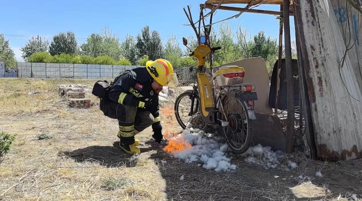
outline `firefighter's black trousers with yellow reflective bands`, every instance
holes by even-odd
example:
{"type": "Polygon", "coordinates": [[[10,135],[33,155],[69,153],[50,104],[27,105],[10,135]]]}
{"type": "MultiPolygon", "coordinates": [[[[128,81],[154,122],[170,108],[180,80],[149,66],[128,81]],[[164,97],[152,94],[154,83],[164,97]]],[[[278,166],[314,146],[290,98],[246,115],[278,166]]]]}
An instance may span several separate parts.
{"type": "Polygon", "coordinates": [[[134,135],[151,126],[155,120],[144,108],[123,105],[112,100],[101,100],[100,108],[105,116],[118,119],[118,137],[127,145],[134,144],[134,135]]]}

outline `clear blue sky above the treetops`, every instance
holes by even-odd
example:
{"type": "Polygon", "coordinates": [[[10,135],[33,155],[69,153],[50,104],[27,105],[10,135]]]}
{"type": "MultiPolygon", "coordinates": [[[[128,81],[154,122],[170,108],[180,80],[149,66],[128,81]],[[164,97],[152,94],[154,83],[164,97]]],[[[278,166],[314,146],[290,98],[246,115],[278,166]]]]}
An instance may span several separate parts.
{"type": "MultiPolygon", "coordinates": [[[[109,26],[110,30],[125,38],[126,34],[136,36],[148,25],[151,30],[157,30],[163,39],[172,33],[177,36],[180,44],[182,37],[194,35],[191,27],[183,26],[188,22],[183,8],[191,5],[193,18],[198,18],[200,3],[205,1],[173,1],[173,0],[12,0],[3,1],[1,8],[0,33],[9,35],[40,35],[49,41],[53,35],[61,31],[71,30],[82,44],[88,35],[100,33],[101,29],[109,26]]],[[[231,5],[242,7],[244,5],[231,5]]],[[[279,10],[279,5],[261,5],[257,9],[279,10]]],[[[209,10],[209,9],[207,9],[209,10]]],[[[213,21],[223,20],[237,12],[219,10],[213,21]]],[[[234,33],[240,22],[247,26],[251,34],[264,29],[267,35],[278,36],[278,23],[275,16],[266,14],[243,13],[239,18],[227,21],[234,33]]],[[[291,17],[291,35],[295,35],[294,21],[291,17]]],[[[214,25],[214,27],[216,27],[214,25]]],[[[18,60],[21,51],[18,50],[28,42],[26,37],[8,37],[18,60]]]]}

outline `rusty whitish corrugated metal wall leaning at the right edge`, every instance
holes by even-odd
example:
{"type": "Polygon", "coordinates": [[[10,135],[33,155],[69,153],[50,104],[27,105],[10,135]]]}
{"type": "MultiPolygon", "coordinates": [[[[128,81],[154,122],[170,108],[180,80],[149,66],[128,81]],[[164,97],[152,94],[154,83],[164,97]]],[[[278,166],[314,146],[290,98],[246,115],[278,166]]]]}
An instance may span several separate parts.
{"type": "Polygon", "coordinates": [[[332,0],[295,2],[303,58],[300,62],[306,78],[317,157],[333,161],[362,157],[362,51],[358,32],[362,22],[354,21],[353,15],[357,19],[362,16],[348,5],[344,9],[345,4],[332,0]]]}

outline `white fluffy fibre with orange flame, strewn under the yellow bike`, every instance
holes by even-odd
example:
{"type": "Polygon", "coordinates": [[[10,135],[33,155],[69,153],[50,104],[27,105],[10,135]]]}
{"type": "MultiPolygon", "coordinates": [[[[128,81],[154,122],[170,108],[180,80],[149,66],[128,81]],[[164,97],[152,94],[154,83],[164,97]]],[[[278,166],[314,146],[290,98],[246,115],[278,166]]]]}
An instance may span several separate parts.
{"type": "MultiPolygon", "coordinates": [[[[190,132],[184,130],[182,134],[176,137],[165,136],[169,139],[169,145],[165,147],[170,151],[174,158],[185,161],[186,163],[202,163],[202,167],[207,170],[215,171],[235,171],[236,165],[231,163],[231,155],[227,153],[227,144],[221,144],[217,136],[206,137],[201,132],[190,132]],[[180,146],[177,147],[176,146],[180,146]]],[[[239,156],[246,157],[245,162],[262,166],[266,169],[277,167],[283,158],[282,151],[272,151],[270,147],[263,147],[260,144],[250,147],[245,153],[239,156]]],[[[295,162],[288,161],[290,168],[296,168],[295,162]]]]}

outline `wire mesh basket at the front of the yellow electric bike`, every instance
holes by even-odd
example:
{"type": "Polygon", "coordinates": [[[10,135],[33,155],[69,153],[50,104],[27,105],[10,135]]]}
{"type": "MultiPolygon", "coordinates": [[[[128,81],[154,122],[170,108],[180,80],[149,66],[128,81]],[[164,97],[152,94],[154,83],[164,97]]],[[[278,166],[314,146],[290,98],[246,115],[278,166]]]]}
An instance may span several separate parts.
{"type": "Polygon", "coordinates": [[[198,63],[185,65],[174,71],[177,76],[178,84],[176,86],[189,86],[196,82],[198,63]]]}

